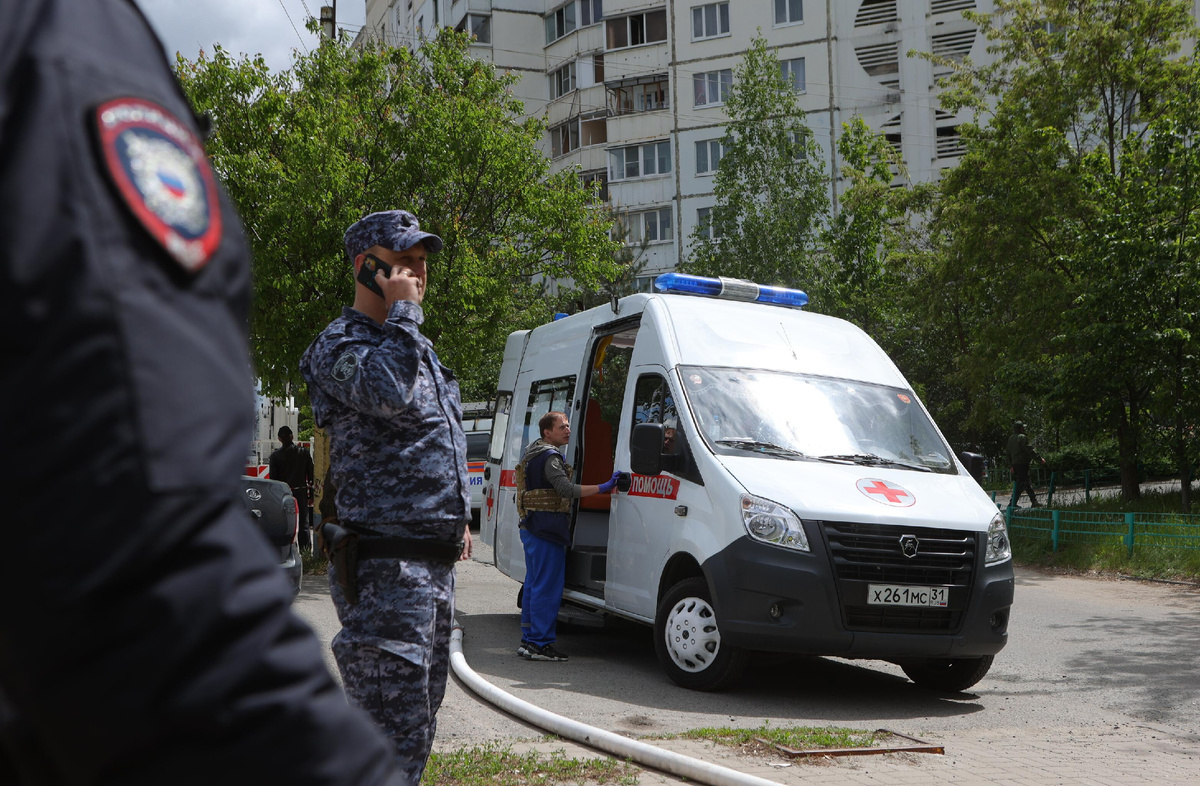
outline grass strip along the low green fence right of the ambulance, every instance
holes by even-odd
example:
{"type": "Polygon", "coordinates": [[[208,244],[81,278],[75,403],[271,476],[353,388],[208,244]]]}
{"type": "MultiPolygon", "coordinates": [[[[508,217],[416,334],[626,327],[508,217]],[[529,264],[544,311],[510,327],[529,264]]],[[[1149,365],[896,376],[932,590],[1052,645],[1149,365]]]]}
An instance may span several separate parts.
{"type": "MultiPolygon", "coordinates": [[[[1092,498],[1090,503],[1063,505],[1054,504],[1055,510],[1086,511],[1104,514],[1134,512],[1150,516],[1171,517],[1180,512],[1180,494],[1170,491],[1147,491],[1140,499],[1124,502],[1120,496],[1092,498]]],[[[1196,496],[1195,511],[1200,512],[1200,494],[1196,496]]],[[[1200,524],[1159,523],[1156,529],[1174,542],[1189,542],[1187,536],[1200,535],[1200,524]]],[[[1081,540],[1072,542],[1069,533],[1060,536],[1058,551],[1055,552],[1046,533],[1022,533],[1014,528],[1013,558],[1025,565],[1036,568],[1060,568],[1082,572],[1121,574],[1139,578],[1200,582],[1200,547],[1154,546],[1147,535],[1139,533],[1134,538],[1133,554],[1121,541],[1121,534],[1114,528],[1110,535],[1090,533],[1080,535],[1081,540]]],[[[1168,541],[1171,542],[1171,541],[1168,541]]],[[[1190,541],[1200,546],[1200,541],[1190,541]]]]}

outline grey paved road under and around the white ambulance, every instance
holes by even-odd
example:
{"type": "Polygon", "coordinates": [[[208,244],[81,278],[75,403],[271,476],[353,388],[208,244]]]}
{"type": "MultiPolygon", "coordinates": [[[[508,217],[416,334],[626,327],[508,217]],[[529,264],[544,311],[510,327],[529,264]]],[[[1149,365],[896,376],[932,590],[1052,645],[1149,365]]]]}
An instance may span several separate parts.
{"type": "MultiPolygon", "coordinates": [[[[470,666],[552,712],[618,733],[703,726],[845,725],[946,745],[946,756],[840,758],[827,766],[740,758],[726,766],[790,784],[1200,782],[1200,589],[1018,571],[1010,643],[967,694],[934,695],[880,661],[762,656],[724,694],[674,686],[649,631],[618,623],[560,634],[565,664],[515,654],[517,584],[485,562],[460,566],[458,622],[470,666]]],[[[337,623],[316,577],[300,613],[328,640],[337,623]]],[[[454,683],[439,715],[442,750],[540,736],[454,683]]],[[[697,744],[667,743],[690,748],[697,744]]],[[[664,779],[646,775],[643,784],[664,779]],[[649,779],[649,780],[647,780],[649,779]]]]}

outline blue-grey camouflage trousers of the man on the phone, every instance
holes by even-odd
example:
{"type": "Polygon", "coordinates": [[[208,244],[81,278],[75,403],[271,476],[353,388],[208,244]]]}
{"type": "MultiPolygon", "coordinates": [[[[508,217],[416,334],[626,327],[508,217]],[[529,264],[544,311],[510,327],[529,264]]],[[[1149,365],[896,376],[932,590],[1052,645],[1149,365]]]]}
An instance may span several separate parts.
{"type": "Polygon", "coordinates": [[[418,784],[433,748],[450,667],[454,565],[408,559],[359,562],[359,602],[346,602],[330,568],[342,630],[334,656],[350,702],[391,738],[396,763],[418,784]]]}

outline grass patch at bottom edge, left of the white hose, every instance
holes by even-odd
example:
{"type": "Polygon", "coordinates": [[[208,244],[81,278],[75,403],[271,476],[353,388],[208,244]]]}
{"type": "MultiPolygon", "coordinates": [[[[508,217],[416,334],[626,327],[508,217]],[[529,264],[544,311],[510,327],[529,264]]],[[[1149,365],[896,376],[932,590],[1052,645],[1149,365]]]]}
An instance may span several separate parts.
{"type": "Polygon", "coordinates": [[[476,745],[433,754],[422,786],[552,786],[554,784],[637,784],[641,768],[613,758],[568,758],[552,754],[515,754],[499,745],[476,745]]]}

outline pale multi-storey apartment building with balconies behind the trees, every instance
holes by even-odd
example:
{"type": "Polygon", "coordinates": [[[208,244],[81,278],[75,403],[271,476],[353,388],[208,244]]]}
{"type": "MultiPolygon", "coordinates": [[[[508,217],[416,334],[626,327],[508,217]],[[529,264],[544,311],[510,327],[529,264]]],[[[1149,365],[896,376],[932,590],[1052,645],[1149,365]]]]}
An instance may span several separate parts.
{"type": "Polygon", "coordinates": [[[631,236],[649,240],[653,276],[688,258],[714,204],[724,100],[756,35],[792,82],[828,172],[841,124],[859,114],[920,182],[958,162],[962,118],[938,106],[938,68],[907,53],[985,61],[962,12],[992,10],[992,0],[366,0],[360,36],[420,46],[438,26],[470,31],[478,56],[518,74],[516,96],[546,116],[552,167],[600,181],[631,236]]]}

